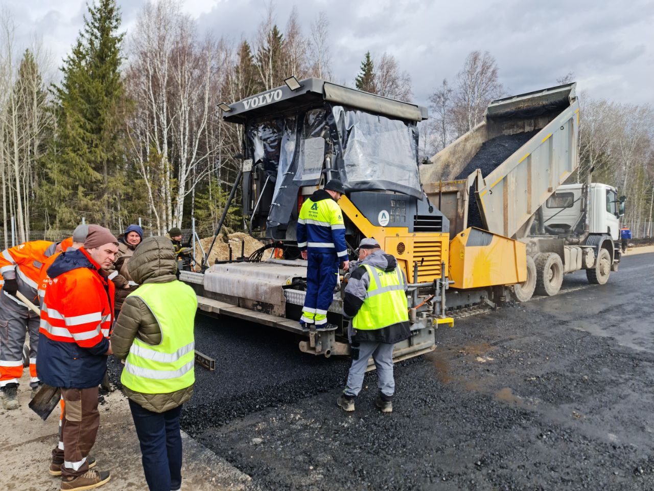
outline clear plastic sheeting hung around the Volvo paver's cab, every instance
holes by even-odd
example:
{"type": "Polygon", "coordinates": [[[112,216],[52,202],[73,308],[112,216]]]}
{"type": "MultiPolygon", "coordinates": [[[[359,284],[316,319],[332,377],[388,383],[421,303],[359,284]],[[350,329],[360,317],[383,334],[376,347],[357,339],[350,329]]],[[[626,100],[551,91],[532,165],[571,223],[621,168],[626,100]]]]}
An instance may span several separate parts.
{"type": "Polygon", "coordinates": [[[269,226],[288,223],[300,187],[320,183],[328,139],[347,191],[394,191],[421,198],[415,123],[341,106],[310,109],[246,125],[254,165],[270,176],[268,186],[275,186],[269,226]]]}

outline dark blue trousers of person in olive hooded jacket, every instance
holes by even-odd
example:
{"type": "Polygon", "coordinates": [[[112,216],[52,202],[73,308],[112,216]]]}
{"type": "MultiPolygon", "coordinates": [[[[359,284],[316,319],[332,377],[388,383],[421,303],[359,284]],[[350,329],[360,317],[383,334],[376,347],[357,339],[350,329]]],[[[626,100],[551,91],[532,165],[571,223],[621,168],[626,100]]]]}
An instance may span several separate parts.
{"type": "Polygon", "coordinates": [[[129,400],[131,417],[141,444],[141,462],[150,491],[171,491],[182,485],[182,407],[152,412],[129,400]]]}

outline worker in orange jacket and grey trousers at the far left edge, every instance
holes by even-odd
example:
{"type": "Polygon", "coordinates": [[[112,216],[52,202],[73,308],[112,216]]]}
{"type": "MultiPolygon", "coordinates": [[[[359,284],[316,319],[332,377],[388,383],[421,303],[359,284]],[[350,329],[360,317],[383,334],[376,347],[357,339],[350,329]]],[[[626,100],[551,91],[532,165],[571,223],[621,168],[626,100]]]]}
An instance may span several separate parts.
{"type": "Polygon", "coordinates": [[[29,385],[32,395],[39,387],[36,358],[40,319],[16,297],[16,293],[22,293],[35,304],[39,303],[37,289],[41,266],[54,254],[55,249],[54,242],[33,240],[0,253],[0,274],[4,280],[0,291],[0,389],[3,407],[7,410],[17,409],[20,405],[16,390],[18,379],[23,374],[26,332],[29,334],[29,385]]]}

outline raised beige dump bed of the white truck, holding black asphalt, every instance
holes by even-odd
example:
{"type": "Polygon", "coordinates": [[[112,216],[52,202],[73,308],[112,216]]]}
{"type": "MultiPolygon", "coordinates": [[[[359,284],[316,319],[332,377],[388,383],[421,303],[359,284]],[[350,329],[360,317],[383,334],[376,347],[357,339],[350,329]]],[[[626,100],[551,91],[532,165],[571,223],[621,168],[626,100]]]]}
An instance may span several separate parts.
{"type": "Polygon", "coordinates": [[[536,210],[577,168],[575,88],[492,101],[481,124],[422,166],[424,190],[449,218],[451,237],[470,226],[526,235],[536,210]]]}

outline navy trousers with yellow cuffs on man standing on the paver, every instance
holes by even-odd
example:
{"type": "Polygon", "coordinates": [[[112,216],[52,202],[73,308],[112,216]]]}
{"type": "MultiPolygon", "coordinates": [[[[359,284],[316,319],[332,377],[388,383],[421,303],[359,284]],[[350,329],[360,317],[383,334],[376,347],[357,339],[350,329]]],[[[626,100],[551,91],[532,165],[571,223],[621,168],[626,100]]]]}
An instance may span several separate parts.
{"type": "Polygon", "coordinates": [[[312,253],[307,258],[307,296],[302,308],[302,320],[322,325],[327,322],[327,310],[334,300],[339,259],[336,253],[312,253]]]}

